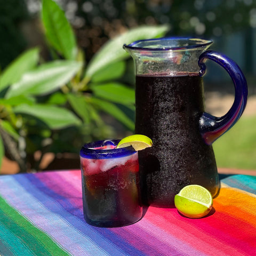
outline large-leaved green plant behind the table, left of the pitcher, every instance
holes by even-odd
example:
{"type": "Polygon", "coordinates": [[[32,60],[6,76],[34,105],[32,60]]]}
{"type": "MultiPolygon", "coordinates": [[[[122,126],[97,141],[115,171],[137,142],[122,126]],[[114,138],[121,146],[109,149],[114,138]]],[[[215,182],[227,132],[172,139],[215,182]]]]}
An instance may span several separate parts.
{"type": "Polygon", "coordinates": [[[163,36],[168,29],[147,26],[127,31],[85,63],[70,23],[52,0],[42,1],[42,23],[51,61],[45,62],[35,47],[0,76],[0,159],[6,154],[22,172],[38,170],[47,152],[77,153],[86,141],[114,135],[102,112],[132,131],[134,90],[125,79],[128,54],[122,45],[163,36]],[[36,160],[38,150],[42,154],[36,160]]]}

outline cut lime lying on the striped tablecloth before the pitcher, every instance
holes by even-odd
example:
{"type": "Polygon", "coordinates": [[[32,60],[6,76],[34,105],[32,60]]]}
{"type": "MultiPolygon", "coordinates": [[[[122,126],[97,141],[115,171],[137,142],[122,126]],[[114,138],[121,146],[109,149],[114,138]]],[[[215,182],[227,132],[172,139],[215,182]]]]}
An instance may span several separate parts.
{"type": "Polygon", "coordinates": [[[178,211],[188,218],[196,219],[207,215],[212,209],[212,195],[199,185],[188,185],[174,197],[178,211]]]}

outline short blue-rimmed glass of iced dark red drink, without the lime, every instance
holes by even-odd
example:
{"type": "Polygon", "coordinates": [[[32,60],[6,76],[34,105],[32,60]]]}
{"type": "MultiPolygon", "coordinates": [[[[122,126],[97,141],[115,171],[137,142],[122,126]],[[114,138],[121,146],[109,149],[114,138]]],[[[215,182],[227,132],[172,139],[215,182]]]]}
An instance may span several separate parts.
{"type": "Polygon", "coordinates": [[[92,142],[80,151],[84,218],[93,226],[126,226],[142,216],[138,152],[117,149],[118,142],[92,142]]]}

